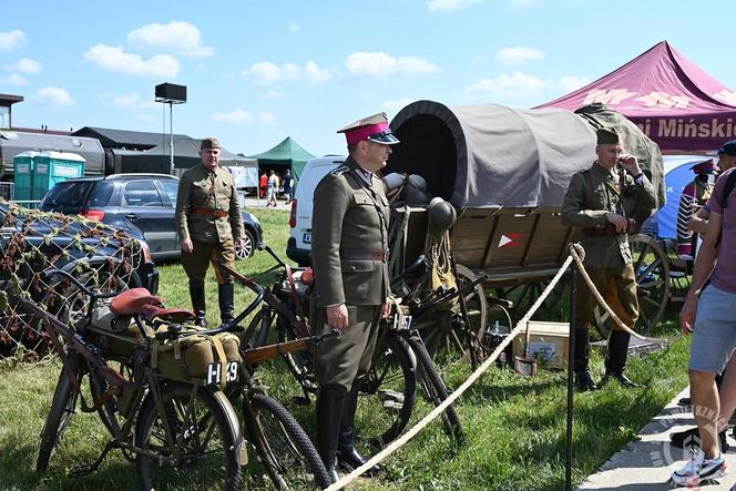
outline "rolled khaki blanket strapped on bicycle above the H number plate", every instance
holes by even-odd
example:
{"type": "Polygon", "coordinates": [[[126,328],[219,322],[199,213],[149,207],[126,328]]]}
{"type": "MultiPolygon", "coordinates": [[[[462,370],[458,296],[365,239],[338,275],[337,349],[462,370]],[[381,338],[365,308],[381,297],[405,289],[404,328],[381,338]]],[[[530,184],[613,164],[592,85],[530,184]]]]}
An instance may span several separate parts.
{"type": "MultiPolygon", "coordinates": [[[[165,327],[164,327],[165,329],[165,327]]],[[[207,367],[221,364],[222,382],[226,381],[227,362],[242,362],[241,341],[231,333],[215,336],[182,334],[174,339],[153,339],[151,368],[174,380],[206,380],[207,367]]]]}

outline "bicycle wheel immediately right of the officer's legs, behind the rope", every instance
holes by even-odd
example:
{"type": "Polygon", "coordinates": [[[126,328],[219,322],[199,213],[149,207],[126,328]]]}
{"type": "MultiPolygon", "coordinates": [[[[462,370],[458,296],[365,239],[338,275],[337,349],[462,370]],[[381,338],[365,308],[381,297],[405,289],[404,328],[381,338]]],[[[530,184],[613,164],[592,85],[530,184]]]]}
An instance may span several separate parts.
{"type": "Polygon", "coordinates": [[[360,381],[356,412],[357,439],[380,448],[407,427],[415,407],[416,360],[396,333],[381,330],[374,360],[360,381]]]}

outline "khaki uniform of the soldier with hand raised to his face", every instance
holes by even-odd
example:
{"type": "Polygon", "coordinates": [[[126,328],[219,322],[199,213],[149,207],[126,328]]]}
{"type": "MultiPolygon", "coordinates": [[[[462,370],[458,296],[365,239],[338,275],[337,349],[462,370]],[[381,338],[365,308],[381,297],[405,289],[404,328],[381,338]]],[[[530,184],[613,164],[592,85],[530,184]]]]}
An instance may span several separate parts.
{"type": "MultiPolygon", "coordinates": [[[[638,318],[638,301],[628,238],[626,234],[606,233],[605,214],[633,216],[636,207],[653,209],[656,201],[646,176],[638,182],[627,173],[623,177],[620,184],[616,168],[609,171],[597,162],[574,174],[562,204],[562,221],[582,227],[585,269],[616,315],[633,327],[638,318]]],[[[596,300],[583,282],[576,300],[576,328],[587,328],[596,300]]],[[[620,329],[616,325],[613,328],[620,329]]]]}

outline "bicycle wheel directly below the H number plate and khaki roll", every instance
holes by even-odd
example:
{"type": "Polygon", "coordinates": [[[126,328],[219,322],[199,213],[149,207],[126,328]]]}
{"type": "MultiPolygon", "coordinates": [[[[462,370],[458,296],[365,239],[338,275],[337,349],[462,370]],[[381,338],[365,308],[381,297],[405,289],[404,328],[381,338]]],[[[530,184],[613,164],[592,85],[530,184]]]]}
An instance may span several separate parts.
{"type": "Polygon", "coordinates": [[[139,413],[135,446],[153,453],[137,454],[141,487],[239,489],[242,444],[237,419],[223,392],[170,382],[161,390],[161,405],[149,393],[139,413]]]}

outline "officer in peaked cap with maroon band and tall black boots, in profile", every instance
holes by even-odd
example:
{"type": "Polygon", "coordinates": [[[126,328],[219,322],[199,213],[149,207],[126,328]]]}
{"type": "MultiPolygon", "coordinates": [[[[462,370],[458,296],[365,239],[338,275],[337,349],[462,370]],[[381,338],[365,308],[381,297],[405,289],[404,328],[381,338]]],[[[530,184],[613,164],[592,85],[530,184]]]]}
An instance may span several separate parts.
{"type": "Polygon", "coordinates": [[[384,113],[338,133],[345,133],[349,156],[317,185],[311,218],[313,326],[318,334],[341,331],[315,352],[316,442],[333,479],[337,463],[357,468],[366,461],[354,446],[359,379],[370,367],[379,320],[390,314],[389,207],[375,172],[386,165],[389,145],[399,143],[384,113]]]}

